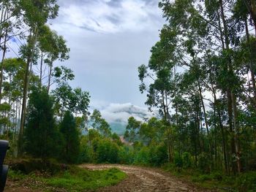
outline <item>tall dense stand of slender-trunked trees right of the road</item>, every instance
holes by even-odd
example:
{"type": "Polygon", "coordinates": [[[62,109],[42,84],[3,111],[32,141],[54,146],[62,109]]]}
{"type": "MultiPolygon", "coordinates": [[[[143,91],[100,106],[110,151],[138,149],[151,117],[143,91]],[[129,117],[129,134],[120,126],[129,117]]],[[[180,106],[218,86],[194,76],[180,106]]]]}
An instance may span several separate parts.
{"type": "Polygon", "coordinates": [[[204,172],[256,169],[255,6],[246,0],[159,2],[167,23],[138,72],[146,104],[159,110],[162,123],[149,131],[135,121],[127,130],[132,142],[150,146],[157,136],[170,163],[179,159],[179,166],[191,163],[204,172]]]}

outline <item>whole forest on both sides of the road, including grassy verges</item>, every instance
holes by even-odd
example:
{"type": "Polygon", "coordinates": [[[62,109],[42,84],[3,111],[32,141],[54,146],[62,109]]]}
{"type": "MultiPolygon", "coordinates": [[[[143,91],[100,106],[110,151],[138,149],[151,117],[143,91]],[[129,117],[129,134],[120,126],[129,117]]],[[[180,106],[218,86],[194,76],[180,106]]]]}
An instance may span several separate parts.
{"type": "Polygon", "coordinates": [[[126,164],[203,188],[256,190],[255,0],[159,1],[166,22],[148,64],[138,67],[138,88],[159,116],[130,117],[124,135],[89,110],[89,92],[72,88],[75,74],[59,65],[70,50],[48,24],[58,17],[57,0],[0,7],[0,138],[10,142],[10,182],[97,189],[130,176],[77,164],[126,164]]]}

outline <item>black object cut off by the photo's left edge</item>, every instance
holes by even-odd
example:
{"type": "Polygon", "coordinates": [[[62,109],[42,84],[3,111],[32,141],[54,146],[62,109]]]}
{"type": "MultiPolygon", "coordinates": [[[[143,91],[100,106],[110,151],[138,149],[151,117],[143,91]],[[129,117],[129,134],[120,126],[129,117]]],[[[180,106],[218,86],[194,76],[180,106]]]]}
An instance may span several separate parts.
{"type": "Polygon", "coordinates": [[[0,140],[0,191],[4,191],[4,186],[7,181],[8,166],[4,164],[4,158],[9,149],[9,142],[0,140]]]}

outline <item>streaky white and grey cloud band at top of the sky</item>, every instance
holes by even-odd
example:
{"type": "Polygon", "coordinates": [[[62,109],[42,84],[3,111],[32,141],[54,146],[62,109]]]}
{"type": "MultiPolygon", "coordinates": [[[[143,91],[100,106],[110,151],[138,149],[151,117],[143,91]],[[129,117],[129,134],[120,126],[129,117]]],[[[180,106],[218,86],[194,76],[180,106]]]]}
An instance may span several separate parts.
{"type": "MultiPolygon", "coordinates": [[[[55,28],[63,23],[97,31],[99,33],[116,33],[122,31],[151,30],[154,26],[162,23],[159,18],[160,10],[157,0],[154,4],[143,0],[99,0],[77,1],[78,3],[64,4],[60,8],[58,23],[55,28]],[[157,22],[157,23],[156,23],[157,22]]],[[[152,2],[152,1],[151,1],[152,2]]]]}

